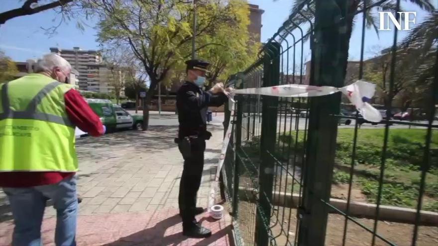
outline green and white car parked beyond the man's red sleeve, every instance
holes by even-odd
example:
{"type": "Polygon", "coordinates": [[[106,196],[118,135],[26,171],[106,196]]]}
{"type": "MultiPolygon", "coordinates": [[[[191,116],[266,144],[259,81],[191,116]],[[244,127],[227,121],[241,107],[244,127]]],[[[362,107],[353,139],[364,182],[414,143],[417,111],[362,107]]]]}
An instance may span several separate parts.
{"type": "Polygon", "coordinates": [[[112,104],[107,99],[85,99],[93,111],[99,115],[102,123],[108,130],[116,129],[141,129],[143,117],[131,115],[117,104],[112,104]]]}

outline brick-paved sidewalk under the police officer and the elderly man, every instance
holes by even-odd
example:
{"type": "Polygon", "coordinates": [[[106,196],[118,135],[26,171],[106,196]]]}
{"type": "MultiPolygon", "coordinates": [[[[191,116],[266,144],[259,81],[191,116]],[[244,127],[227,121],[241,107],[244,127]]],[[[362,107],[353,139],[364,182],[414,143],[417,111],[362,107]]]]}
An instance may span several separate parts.
{"type": "MultiPolygon", "coordinates": [[[[198,206],[207,207],[216,173],[222,130],[210,126],[206,164],[198,206]]],[[[176,126],[154,126],[147,132],[124,131],[99,139],[77,141],[80,161],[78,192],[84,200],[78,218],[78,246],[232,245],[231,219],[215,221],[207,212],[198,216],[213,231],[209,239],[182,235],[178,189],[183,160],[173,143],[176,126]]],[[[53,245],[56,211],[46,207],[44,245],[53,245]]],[[[0,192],[0,246],[10,244],[13,223],[0,192]]]]}

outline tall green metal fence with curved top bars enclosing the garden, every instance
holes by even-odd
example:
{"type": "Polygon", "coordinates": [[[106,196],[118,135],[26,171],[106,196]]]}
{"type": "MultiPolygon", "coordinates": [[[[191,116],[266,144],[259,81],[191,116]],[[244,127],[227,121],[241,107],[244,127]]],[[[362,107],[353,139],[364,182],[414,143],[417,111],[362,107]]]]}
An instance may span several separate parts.
{"type": "MultiPolygon", "coordinates": [[[[356,2],[352,0],[298,2],[288,20],[263,46],[257,62],[230,77],[228,84],[236,88],[279,84],[344,86],[349,29],[354,17],[360,19],[356,25],[361,28],[360,62],[354,79],[363,79],[363,13],[385,1],[362,0],[357,10],[351,10],[352,2],[356,2]],[[306,58],[306,50],[311,50],[310,58],[306,58]]],[[[400,0],[395,4],[400,9],[400,0]]],[[[397,60],[403,59],[398,54],[406,51],[398,43],[397,29],[393,37],[387,55],[389,96],[396,86],[397,60]]],[[[423,121],[394,120],[387,113],[376,126],[365,127],[368,122],[358,112],[340,112],[340,94],[306,99],[235,97],[235,115],[225,112],[224,122],[232,118],[232,124],[225,125],[232,127],[232,135],[222,181],[237,245],[414,246],[434,242],[438,237],[437,222],[428,221],[422,212],[424,202],[437,199],[434,182],[438,183],[438,139],[432,136],[438,128],[434,122],[438,95],[437,43],[434,44],[429,52],[417,54],[427,56],[422,65],[427,69],[420,73],[426,98],[422,104],[423,121]],[[421,135],[417,138],[421,141],[410,140],[414,135],[421,135]],[[367,149],[371,147],[378,151],[369,154],[367,149]],[[406,171],[405,176],[400,174],[402,171],[406,171]],[[403,181],[407,178],[415,180],[408,185],[408,181],[403,181]],[[340,199],[338,186],[344,192],[340,199]],[[366,196],[359,201],[354,195],[358,189],[366,196]],[[390,218],[382,212],[391,209],[410,211],[408,214],[415,214],[415,219],[390,218]],[[382,224],[383,229],[379,227],[382,224]],[[404,238],[397,236],[400,230],[406,231],[404,238]],[[421,230],[432,233],[431,238],[420,234],[421,230]]],[[[384,107],[386,112],[393,109],[391,101],[384,107]]],[[[438,205],[427,210],[438,211],[438,205]]]]}

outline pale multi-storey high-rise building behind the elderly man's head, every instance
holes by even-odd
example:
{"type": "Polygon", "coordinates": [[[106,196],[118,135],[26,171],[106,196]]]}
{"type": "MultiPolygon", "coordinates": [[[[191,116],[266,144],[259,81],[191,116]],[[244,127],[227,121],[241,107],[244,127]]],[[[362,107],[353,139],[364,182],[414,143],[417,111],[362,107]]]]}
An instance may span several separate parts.
{"type": "Polygon", "coordinates": [[[79,72],[78,85],[80,90],[110,93],[113,87],[109,85],[109,70],[102,64],[102,57],[95,50],[50,48],[59,54],[79,72]]]}

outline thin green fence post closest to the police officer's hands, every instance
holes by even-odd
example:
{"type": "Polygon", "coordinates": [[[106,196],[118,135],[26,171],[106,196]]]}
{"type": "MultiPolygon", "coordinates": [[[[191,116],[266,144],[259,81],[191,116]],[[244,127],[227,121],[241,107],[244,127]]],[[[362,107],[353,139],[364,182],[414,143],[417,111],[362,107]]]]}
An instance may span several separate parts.
{"type": "MultiPolygon", "coordinates": [[[[243,78],[242,76],[238,76],[236,79],[236,88],[243,88],[243,78]]],[[[234,180],[233,180],[233,200],[232,200],[232,214],[234,220],[237,220],[238,217],[238,196],[239,196],[239,168],[240,168],[240,158],[237,156],[240,151],[240,145],[242,142],[242,114],[243,114],[243,95],[236,95],[237,105],[234,114],[236,115],[236,127],[235,129],[235,161],[234,161],[234,180]]]]}

